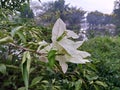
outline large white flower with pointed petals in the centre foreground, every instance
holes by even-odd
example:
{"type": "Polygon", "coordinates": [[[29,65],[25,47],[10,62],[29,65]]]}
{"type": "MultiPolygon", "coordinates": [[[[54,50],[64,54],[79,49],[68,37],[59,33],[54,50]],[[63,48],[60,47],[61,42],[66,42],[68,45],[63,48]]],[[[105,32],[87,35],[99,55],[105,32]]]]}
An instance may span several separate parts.
{"type": "Polygon", "coordinates": [[[59,61],[64,73],[68,68],[66,62],[83,64],[89,62],[89,60],[84,58],[90,56],[87,52],[77,50],[77,48],[82,45],[83,41],[74,42],[68,39],[69,37],[78,38],[78,35],[73,31],[66,30],[64,22],[58,19],[52,30],[52,45],[53,49],[57,50],[57,53],[60,54],[56,56],[56,60],[59,61]]]}

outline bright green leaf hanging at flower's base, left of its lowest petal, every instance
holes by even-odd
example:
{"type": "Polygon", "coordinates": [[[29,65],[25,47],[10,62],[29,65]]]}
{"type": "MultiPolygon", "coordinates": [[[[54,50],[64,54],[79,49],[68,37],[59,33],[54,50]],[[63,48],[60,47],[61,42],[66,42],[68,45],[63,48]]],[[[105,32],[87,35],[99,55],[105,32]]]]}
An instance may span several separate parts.
{"type": "Polygon", "coordinates": [[[48,52],[49,66],[52,68],[55,64],[56,50],[51,50],[48,52]]]}

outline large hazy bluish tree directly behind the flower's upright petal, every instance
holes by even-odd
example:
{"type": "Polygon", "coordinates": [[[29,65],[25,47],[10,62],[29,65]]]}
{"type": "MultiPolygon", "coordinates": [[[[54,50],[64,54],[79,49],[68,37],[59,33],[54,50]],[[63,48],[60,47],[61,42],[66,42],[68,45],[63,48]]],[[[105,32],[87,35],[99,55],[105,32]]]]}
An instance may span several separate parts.
{"type": "Polygon", "coordinates": [[[69,7],[64,0],[48,2],[42,5],[42,12],[39,14],[40,23],[43,25],[53,25],[57,18],[61,18],[68,29],[80,29],[80,23],[86,13],[76,7],[69,7]]]}

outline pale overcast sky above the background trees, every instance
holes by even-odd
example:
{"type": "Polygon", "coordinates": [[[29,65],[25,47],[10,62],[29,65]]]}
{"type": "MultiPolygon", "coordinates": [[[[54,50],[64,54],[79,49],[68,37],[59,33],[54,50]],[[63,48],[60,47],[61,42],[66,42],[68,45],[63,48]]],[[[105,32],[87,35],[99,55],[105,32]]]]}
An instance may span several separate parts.
{"type": "MultiPolygon", "coordinates": [[[[36,1],[36,0],[32,0],[36,1]]],[[[55,1],[55,0],[41,0],[41,2],[55,1]]],[[[115,0],[65,0],[66,4],[70,6],[77,6],[86,11],[98,10],[103,13],[110,14],[113,11],[115,0]]]]}

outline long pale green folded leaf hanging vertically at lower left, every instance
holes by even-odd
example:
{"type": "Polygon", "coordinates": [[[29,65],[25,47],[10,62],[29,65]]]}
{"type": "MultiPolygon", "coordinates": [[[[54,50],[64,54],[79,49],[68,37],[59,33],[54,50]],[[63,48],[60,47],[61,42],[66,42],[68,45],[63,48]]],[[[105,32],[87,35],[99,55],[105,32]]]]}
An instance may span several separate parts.
{"type": "Polygon", "coordinates": [[[31,64],[30,53],[26,51],[23,54],[22,63],[21,63],[22,76],[26,90],[28,90],[28,86],[29,86],[30,64],[31,64]]]}

